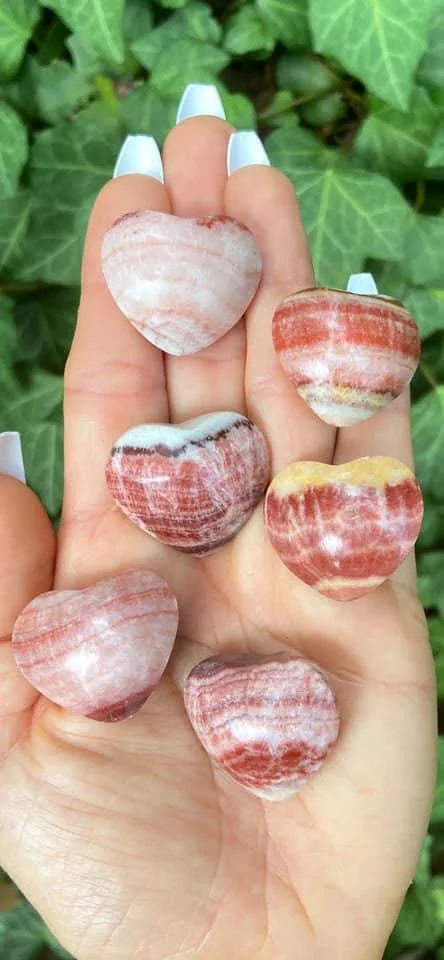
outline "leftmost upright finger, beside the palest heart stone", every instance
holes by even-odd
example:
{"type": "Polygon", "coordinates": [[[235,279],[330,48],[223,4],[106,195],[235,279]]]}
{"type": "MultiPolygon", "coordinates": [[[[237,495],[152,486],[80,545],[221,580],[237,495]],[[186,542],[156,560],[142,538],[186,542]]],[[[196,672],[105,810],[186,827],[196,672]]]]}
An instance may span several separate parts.
{"type": "Polygon", "coordinates": [[[111,504],[104,467],[117,437],[145,420],[168,420],[162,353],[123,316],[100,264],[107,228],[143,209],[168,212],[165,187],[149,176],[121,176],[103,188],[89,222],[77,328],[65,371],[63,523],[80,520],[78,529],[111,504]]]}

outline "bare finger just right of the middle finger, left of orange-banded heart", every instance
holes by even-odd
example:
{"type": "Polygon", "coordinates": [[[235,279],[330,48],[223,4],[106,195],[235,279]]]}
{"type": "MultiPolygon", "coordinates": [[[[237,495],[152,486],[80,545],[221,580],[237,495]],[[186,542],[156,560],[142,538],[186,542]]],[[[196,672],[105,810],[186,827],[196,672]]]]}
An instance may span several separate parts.
{"type": "Polygon", "coordinates": [[[241,167],[227,181],[225,212],[250,228],[263,257],[262,282],[246,316],[249,416],[270,441],[274,473],[293,460],[328,462],[336,431],[298,397],[280,367],[271,335],[278,303],[290,293],[313,286],[307,239],[293,188],[272,167],[241,167]]]}

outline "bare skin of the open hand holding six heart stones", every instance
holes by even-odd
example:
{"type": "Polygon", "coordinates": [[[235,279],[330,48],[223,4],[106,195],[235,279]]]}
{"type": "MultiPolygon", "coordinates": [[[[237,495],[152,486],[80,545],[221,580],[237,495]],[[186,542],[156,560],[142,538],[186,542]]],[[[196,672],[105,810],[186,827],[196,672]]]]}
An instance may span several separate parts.
{"type": "Polygon", "coordinates": [[[108,184],[86,243],[65,378],[55,586],[83,587],[128,567],[151,568],[171,584],[178,639],[132,719],[108,725],[68,714],[36,699],[15,671],[8,635],[24,603],[51,587],[54,544],[30,491],[0,478],[0,529],[8,526],[11,541],[1,588],[0,857],[78,960],[379,960],[427,826],[435,697],[411,558],[391,582],[341,604],[282,565],[261,505],[231,544],[194,559],[133,527],[104,483],[112,442],[130,426],[217,409],[247,412],[264,430],[274,473],[296,459],[411,459],[406,397],[338,433],[280,372],[271,315],[284,296],[312,285],[306,241],[278,171],[244,168],[227,181],[229,133],[213,118],[176,127],[164,148],[166,186],[140,176],[108,184]],[[104,229],[148,207],[236,216],[263,252],[245,324],[193,357],[162,358],[101,278],[104,229]],[[327,672],[341,731],[304,789],[270,803],[212,765],[182,689],[193,665],[215,652],[277,649],[327,672]]]}

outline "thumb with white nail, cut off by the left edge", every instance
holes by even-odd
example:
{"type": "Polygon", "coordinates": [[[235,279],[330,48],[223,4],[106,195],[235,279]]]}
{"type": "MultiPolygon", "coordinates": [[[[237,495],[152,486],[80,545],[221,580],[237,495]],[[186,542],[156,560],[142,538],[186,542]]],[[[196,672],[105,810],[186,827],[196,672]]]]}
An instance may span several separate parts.
{"type": "Polygon", "coordinates": [[[23,607],[53,582],[56,538],[51,522],[26,486],[20,434],[0,434],[0,757],[29,724],[38,696],[18,670],[11,646],[23,607]]]}

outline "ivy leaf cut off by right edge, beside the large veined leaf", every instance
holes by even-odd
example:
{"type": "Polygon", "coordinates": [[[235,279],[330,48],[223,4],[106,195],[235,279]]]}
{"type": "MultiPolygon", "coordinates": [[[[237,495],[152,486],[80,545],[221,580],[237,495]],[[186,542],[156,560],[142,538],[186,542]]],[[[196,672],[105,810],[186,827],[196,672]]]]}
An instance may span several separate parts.
{"type": "Polygon", "coordinates": [[[444,216],[411,217],[405,237],[404,266],[407,277],[416,284],[440,287],[444,216]]]}

